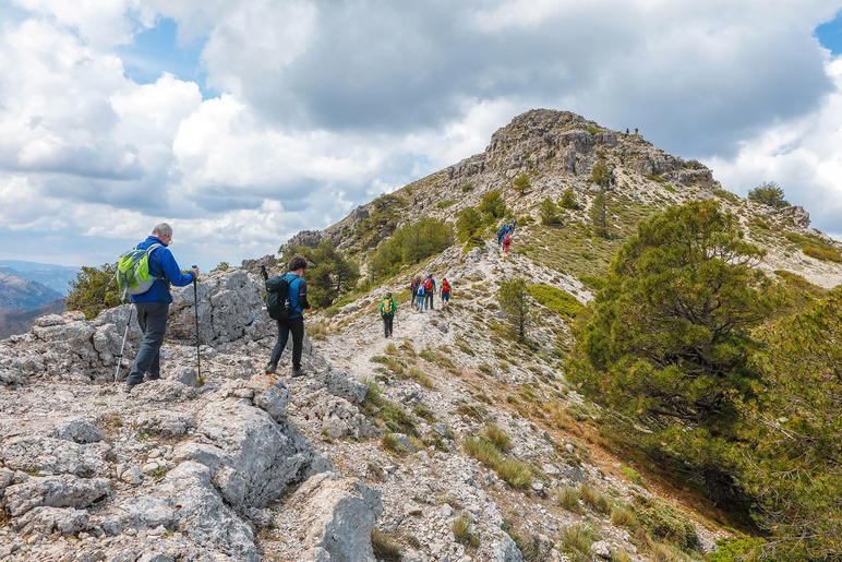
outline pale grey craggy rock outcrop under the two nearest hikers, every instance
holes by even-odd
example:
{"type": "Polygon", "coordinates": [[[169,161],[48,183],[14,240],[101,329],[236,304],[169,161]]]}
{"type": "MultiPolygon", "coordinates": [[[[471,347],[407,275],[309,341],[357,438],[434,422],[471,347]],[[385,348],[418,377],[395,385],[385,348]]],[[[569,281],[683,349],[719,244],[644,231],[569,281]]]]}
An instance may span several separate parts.
{"type": "MultiPolygon", "coordinates": [[[[203,344],[201,382],[190,340],[192,287],[175,291],[165,379],[131,395],[111,382],[129,307],[93,322],[46,316],[32,333],[0,343],[0,507],[10,517],[0,558],[262,559],[256,531],[284,512],[278,502],[333,465],[289,421],[288,387],[253,368],[275,342],[260,287],[242,271],[199,284],[200,319],[208,324],[201,335],[214,344],[203,344]],[[190,374],[197,386],[176,380],[190,374]],[[81,540],[56,540],[71,535],[81,540]]],[[[128,356],[139,336],[130,324],[128,356]]],[[[370,435],[354,406],[368,387],[330,370],[309,339],[303,359],[312,369],[309,392],[342,405],[325,416],[345,423],[342,434],[370,435]]],[[[306,529],[308,548],[318,560],[373,560],[378,494],[353,479],[320,490],[312,510],[321,530],[315,523],[306,529]]]]}

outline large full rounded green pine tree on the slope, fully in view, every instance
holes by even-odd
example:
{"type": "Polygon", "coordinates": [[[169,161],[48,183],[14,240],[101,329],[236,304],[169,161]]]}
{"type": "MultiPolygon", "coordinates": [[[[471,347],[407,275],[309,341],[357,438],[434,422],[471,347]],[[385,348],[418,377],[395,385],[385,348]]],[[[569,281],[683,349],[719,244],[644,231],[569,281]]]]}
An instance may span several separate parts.
{"type": "Polygon", "coordinates": [[[693,467],[717,500],[732,474],[737,405],[757,373],[750,330],[774,306],[754,270],[762,252],[715,202],[691,202],[638,226],[576,331],[570,378],[651,430],[637,438],[693,467]]]}

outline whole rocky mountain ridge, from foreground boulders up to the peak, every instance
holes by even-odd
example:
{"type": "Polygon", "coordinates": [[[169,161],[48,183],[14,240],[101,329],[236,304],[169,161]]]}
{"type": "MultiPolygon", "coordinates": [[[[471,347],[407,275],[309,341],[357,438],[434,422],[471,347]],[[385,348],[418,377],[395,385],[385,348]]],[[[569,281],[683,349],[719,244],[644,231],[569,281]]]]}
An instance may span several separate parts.
{"type": "Polygon", "coordinates": [[[512,343],[495,327],[497,289],[528,275],[585,306],[594,292],[587,275],[604,273],[637,219],[695,199],[733,210],[768,250],[757,266],[769,272],[835,286],[839,263],[805,254],[786,234],[839,244],[809,229],[804,210],[727,193],[710,170],[638,135],[537,110],[483,154],[396,192],[389,222],[373,220],[375,201],[288,247],[332,240],[364,265],[395,229],[420,216],[453,223],[495,190],[521,217],[510,253],[485,235],[308,315],[308,376],[286,375],[289,349],[278,373],[264,374],[276,327],[257,266],[275,266],[274,256],[203,275],[197,310],[192,287],[175,289],[164,378],[131,394],[141,334],[129,306],[91,321],[41,316],[0,342],[0,559],[685,560],[652,553],[669,534],[696,557],[687,560],[703,560],[739,523],[604,439],[611,412],[565,380],[569,314],[532,302],[529,342],[512,343]],[[579,208],[565,222],[586,223],[600,158],[616,179],[612,241],[526,219],[572,189],[579,208]],[[515,192],[524,174],[529,187],[515,192]],[[449,310],[409,309],[417,274],[449,280],[449,310]],[[377,313],[385,291],[399,302],[393,338],[377,313]],[[649,524],[630,525],[630,514],[649,524]]]}

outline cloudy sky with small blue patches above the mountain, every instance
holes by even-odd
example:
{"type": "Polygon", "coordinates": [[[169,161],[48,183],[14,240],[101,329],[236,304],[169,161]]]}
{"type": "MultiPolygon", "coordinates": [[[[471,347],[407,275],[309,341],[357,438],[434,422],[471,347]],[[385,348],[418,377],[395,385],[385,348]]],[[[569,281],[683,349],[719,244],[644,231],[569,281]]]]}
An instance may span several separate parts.
{"type": "Polygon", "coordinates": [[[842,0],[0,1],[0,259],[239,264],[566,109],[842,239],[842,0]]]}

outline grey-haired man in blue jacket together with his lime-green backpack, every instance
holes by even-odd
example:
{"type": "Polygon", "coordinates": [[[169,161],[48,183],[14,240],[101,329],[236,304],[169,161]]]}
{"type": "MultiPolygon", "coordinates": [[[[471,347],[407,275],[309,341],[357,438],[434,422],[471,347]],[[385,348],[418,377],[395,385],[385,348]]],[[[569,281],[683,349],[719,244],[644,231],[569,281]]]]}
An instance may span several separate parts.
{"type": "Polygon", "coordinates": [[[160,379],[160,347],[167,333],[167,319],[172,295],[170,284],[184,287],[199,278],[195,265],[188,273],[172,256],[168,246],[172,243],[172,227],[161,223],[153,228],[152,234],[120,256],[118,262],[117,284],[123,289],[123,296],[130,300],[137,312],[137,325],[143,332],[143,343],[134,364],[125,381],[125,392],[146,380],[160,379]]]}

